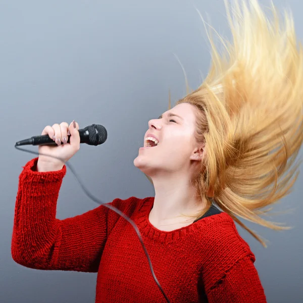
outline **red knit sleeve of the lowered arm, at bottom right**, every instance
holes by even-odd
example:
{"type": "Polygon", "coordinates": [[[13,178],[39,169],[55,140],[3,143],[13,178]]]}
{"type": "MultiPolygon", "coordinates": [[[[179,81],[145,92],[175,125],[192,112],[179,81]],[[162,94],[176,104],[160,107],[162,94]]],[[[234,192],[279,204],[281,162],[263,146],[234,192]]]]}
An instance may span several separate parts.
{"type": "Polygon", "coordinates": [[[258,272],[249,256],[236,262],[207,292],[209,303],[266,303],[258,272]]]}

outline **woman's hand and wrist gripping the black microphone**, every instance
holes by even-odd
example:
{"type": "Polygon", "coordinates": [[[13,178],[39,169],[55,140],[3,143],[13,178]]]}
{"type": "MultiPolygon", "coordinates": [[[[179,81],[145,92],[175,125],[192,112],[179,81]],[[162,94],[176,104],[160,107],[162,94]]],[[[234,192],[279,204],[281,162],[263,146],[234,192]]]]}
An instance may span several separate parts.
{"type": "Polygon", "coordinates": [[[39,145],[39,155],[37,162],[38,172],[57,171],[61,170],[64,163],[58,159],[52,158],[57,157],[62,159],[64,162],[70,160],[80,149],[80,135],[79,125],[75,121],[68,125],[67,122],[61,124],[54,124],[53,126],[47,125],[41,135],[48,135],[57,145],[39,145]],[[68,135],[70,136],[70,142],[67,143],[68,135]],[[61,144],[63,142],[63,144],[61,144]],[[52,157],[44,156],[49,155],[52,157]]]}

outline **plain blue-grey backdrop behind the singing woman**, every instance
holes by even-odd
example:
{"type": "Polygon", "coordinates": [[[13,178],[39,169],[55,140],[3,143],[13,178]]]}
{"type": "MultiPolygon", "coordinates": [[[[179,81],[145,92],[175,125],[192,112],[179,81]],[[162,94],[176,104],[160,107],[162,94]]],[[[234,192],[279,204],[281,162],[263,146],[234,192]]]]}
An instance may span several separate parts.
{"type": "MultiPolygon", "coordinates": [[[[301,1],[274,3],[292,9],[301,38],[301,1]]],[[[195,8],[229,36],[223,0],[0,1],[0,302],[94,302],[96,274],[38,271],[12,260],[18,176],[35,157],[21,153],[14,144],[39,135],[48,124],[73,119],[80,128],[102,124],[109,134],[106,143],[81,144],[71,160],[81,179],[106,202],[153,195],[153,186],[133,166],[133,159],[147,121],[167,110],[169,89],[173,102],[186,93],[173,54],[184,65],[192,88],[207,74],[209,46],[195,8]]],[[[268,302],[303,299],[302,180],[301,174],[293,192],[275,207],[292,209],[273,218],[292,230],[275,232],[248,224],[269,240],[267,249],[238,228],[256,255],[268,302]]],[[[95,207],[68,171],[57,217],[95,207]]]]}

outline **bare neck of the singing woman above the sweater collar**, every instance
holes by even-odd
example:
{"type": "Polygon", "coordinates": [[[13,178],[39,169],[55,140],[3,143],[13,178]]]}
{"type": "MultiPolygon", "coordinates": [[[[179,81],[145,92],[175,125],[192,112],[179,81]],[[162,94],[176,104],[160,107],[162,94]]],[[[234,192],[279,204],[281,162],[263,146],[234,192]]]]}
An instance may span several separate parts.
{"type": "Polygon", "coordinates": [[[196,198],[196,189],[184,174],[154,176],[151,178],[155,187],[155,201],[149,218],[157,224],[175,224],[194,220],[192,215],[203,210],[204,203],[196,198]]]}

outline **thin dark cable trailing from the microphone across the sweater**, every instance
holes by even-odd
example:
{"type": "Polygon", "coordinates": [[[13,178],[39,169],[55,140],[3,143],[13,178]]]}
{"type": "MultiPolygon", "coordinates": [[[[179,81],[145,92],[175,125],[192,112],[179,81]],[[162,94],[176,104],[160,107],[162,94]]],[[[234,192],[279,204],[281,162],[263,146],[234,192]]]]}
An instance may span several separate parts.
{"type": "Polygon", "coordinates": [[[45,155],[45,154],[39,154],[39,153],[36,153],[35,151],[32,151],[32,150],[27,150],[27,149],[24,149],[24,148],[20,148],[19,146],[17,146],[17,144],[15,144],[15,148],[19,149],[19,150],[23,150],[23,151],[26,151],[27,153],[30,153],[30,154],[34,154],[34,155],[42,155],[42,156],[47,156],[47,157],[52,157],[52,158],[55,158],[55,159],[58,159],[60,161],[62,161],[64,164],[66,164],[66,166],[71,170],[71,172],[74,174],[74,176],[76,177],[76,180],[79,182],[80,186],[82,187],[83,191],[86,193],[86,195],[91,199],[93,200],[95,203],[99,204],[99,205],[104,205],[105,207],[109,208],[110,210],[114,211],[115,213],[117,213],[118,215],[120,215],[121,217],[123,217],[126,221],[128,221],[132,226],[133,228],[135,229],[138,237],[139,237],[139,240],[140,240],[140,243],[143,247],[143,250],[145,252],[145,255],[147,257],[147,260],[148,260],[148,264],[149,264],[149,268],[150,268],[150,271],[151,271],[151,274],[153,275],[153,278],[155,280],[155,282],[157,283],[158,287],[160,288],[162,294],[164,295],[166,301],[168,303],[170,303],[168,297],[166,296],[166,294],[164,293],[156,275],[155,275],[155,272],[153,270],[153,265],[151,265],[151,261],[150,261],[150,258],[149,258],[149,255],[148,255],[148,252],[147,252],[147,249],[146,247],[144,246],[143,244],[143,240],[141,238],[141,234],[139,232],[139,229],[137,227],[137,225],[128,217],[126,216],[123,212],[121,212],[119,209],[115,208],[114,206],[112,205],[109,205],[107,203],[104,203],[102,202],[101,200],[97,199],[96,197],[94,197],[86,188],[85,186],[83,185],[83,183],[80,181],[80,178],[77,176],[75,170],[72,168],[71,164],[68,163],[68,161],[64,161],[60,158],[57,158],[57,157],[54,157],[54,156],[49,156],[49,155],[45,155]]]}

